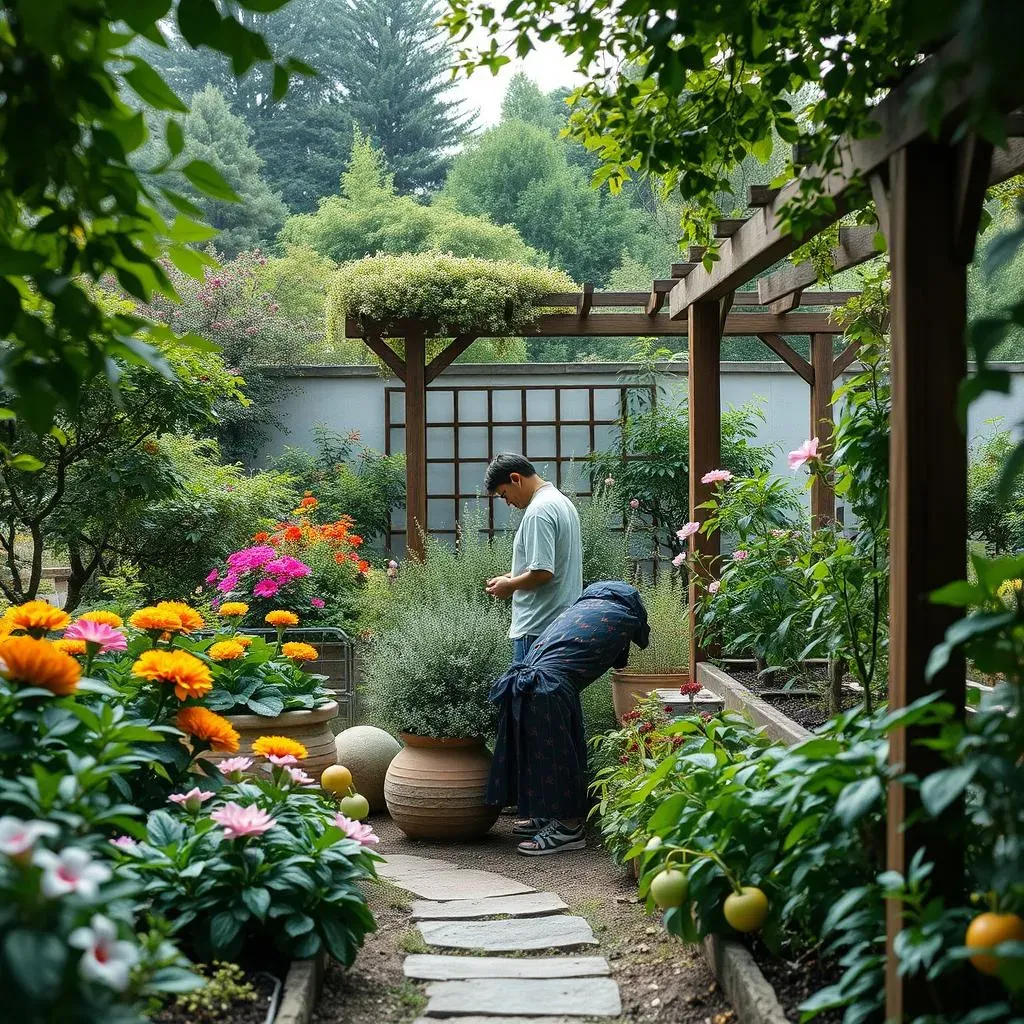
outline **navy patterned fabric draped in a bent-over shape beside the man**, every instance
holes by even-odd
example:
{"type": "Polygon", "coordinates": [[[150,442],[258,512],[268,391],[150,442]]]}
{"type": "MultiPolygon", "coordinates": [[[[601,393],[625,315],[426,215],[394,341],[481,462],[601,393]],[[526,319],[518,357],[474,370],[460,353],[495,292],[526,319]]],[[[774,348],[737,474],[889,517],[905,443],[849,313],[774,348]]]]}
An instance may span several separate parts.
{"type": "Polygon", "coordinates": [[[647,612],[636,588],[595,583],[490,688],[500,706],[487,802],[530,818],[587,810],[587,739],[580,693],[646,647],[647,612]]]}

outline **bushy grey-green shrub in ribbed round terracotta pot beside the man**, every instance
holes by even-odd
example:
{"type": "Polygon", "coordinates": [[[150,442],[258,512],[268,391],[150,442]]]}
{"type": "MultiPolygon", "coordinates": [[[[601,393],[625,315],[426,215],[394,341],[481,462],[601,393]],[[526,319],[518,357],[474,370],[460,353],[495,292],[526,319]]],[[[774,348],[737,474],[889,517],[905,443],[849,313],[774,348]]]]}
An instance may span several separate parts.
{"type": "Polygon", "coordinates": [[[485,803],[495,727],[490,685],[509,666],[508,611],[459,590],[400,602],[369,645],[362,695],[404,743],[384,780],[395,824],[416,839],[472,839],[500,808],[485,803]]]}

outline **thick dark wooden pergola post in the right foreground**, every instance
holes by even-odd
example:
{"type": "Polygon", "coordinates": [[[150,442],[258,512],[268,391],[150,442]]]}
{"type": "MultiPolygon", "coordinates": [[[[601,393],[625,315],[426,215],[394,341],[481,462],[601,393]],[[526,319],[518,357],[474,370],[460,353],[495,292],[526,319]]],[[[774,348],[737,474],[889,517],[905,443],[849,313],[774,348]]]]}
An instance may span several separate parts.
{"type": "MultiPolygon", "coordinates": [[[[889,710],[940,691],[963,716],[966,668],[962,654],[932,681],[932,648],[961,614],[932,604],[929,594],[964,575],[967,551],[967,438],[956,417],[967,375],[967,267],[957,240],[977,231],[984,178],[962,195],[959,157],[952,145],[916,141],[890,163],[892,266],[892,433],[890,440],[889,710]],[[971,190],[969,190],[971,191],[971,190]],[[972,226],[973,223],[973,226],[972,226]]],[[[986,175],[987,176],[987,175],[986,175]]],[[[973,242],[972,242],[973,248],[973,242]]],[[[892,736],[890,763],[919,778],[941,769],[920,745],[922,729],[892,736]]],[[[893,783],[889,792],[888,866],[905,874],[918,850],[934,863],[933,896],[963,896],[964,850],[952,825],[955,802],[937,821],[907,824],[916,796],[893,783]]],[[[899,975],[893,943],[903,927],[901,906],[887,908],[886,1019],[902,1022],[935,1012],[925,979],[899,975]]],[[[954,993],[946,993],[954,1001],[954,993]]],[[[944,1009],[952,1011],[950,1005],[944,1009]]]]}

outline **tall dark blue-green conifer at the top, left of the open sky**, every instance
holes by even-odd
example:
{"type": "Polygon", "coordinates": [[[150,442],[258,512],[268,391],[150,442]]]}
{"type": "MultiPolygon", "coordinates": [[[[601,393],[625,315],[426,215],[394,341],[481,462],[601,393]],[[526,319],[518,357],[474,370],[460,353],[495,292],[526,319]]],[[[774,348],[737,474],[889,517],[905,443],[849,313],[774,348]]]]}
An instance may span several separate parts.
{"type": "Polygon", "coordinates": [[[383,151],[400,193],[443,181],[470,116],[449,98],[453,48],[435,0],[345,0],[338,67],[345,108],[383,151]]]}

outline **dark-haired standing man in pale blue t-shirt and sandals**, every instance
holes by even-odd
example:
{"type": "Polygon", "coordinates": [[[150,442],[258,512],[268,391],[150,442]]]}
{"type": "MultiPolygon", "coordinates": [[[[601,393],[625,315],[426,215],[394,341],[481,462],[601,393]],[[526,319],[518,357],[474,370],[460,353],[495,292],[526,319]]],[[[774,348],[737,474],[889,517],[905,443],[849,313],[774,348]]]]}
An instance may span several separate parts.
{"type": "MultiPolygon", "coordinates": [[[[523,660],[537,638],[583,593],[583,540],[575,506],[532,463],[506,453],[487,467],[484,487],[513,508],[522,509],[512,549],[512,570],[488,580],[492,597],[512,599],[513,660],[523,660]]],[[[567,726],[567,724],[566,724],[567,726]]],[[[525,854],[554,853],[584,846],[582,820],[522,819],[513,831],[534,837],[521,843],[525,854]]]]}

